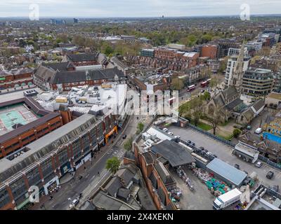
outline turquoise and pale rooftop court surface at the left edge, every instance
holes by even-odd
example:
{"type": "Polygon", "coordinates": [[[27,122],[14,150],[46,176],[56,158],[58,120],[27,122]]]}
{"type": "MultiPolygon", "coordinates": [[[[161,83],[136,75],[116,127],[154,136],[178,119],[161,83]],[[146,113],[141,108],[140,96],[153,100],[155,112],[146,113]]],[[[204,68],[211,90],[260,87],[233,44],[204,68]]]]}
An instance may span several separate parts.
{"type": "Polygon", "coordinates": [[[15,130],[15,126],[20,127],[31,123],[37,118],[25,104],[6,106],[0,109],[0,135],[15,130]]]}

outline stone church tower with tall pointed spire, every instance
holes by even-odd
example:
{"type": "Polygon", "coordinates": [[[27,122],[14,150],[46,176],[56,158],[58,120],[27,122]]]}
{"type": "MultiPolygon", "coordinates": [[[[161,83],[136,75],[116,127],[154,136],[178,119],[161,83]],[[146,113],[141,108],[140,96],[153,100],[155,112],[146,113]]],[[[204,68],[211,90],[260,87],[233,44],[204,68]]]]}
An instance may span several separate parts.
{"type": "Polygon", "coordinates": [[[241,92],[242,89],[242,79],[244,76],[243,66],[244,66],[244,41],[242,43],[239,55],[237,57],[237,62],[235,64],[235,68],[233,71],[233,76],[230,80],[230,86],[234,86],[237,92],[241,92]]]}

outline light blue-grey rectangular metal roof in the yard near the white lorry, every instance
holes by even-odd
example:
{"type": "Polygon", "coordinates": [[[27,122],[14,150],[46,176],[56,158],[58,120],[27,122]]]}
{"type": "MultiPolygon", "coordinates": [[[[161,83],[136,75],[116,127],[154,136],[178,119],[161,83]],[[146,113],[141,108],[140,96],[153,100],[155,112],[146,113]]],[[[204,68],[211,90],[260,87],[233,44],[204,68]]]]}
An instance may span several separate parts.
{"type": "Polygon", "coordinates": [[[230,183],[233,183],[236,186],[240,186],[242,181],[244,181],[244,179],[247,177],[245,172],[236,169],[235,167],[223,162],[222,160],[219,160],[218,158],[215,158],[209,162],[207,168],[210,169],[211,172],[222,176],[224,179],[230,181],[230,183]]]}

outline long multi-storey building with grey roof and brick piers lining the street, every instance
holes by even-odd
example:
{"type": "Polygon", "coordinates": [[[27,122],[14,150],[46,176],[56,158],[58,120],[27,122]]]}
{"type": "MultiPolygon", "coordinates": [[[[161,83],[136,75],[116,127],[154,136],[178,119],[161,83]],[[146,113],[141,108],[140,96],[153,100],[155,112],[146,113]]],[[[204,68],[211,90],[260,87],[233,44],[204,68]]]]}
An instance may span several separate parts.
{"type": "Polygon", "coordinates": [[[91,160],[105,144],[105,135],[114,133],[115,116],[84,114],[25,146],[18,158],[0,160],[0,209],[24,207],[30,202],[30,186],[37,186],[40,196],[48,195],[61,176],[91,160]]]}

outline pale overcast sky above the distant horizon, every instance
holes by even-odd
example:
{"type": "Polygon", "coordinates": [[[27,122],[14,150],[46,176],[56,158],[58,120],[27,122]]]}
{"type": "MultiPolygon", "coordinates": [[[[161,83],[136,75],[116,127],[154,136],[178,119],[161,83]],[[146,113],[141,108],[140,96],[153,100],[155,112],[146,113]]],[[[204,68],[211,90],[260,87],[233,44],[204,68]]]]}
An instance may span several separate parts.
{"type": "Polygon", "coordinates": [[[0,0],[0,17],[28,17],[30,4],[40,17],[107,18],[196,15],[280,14],[281,0],[0,0]]]}

